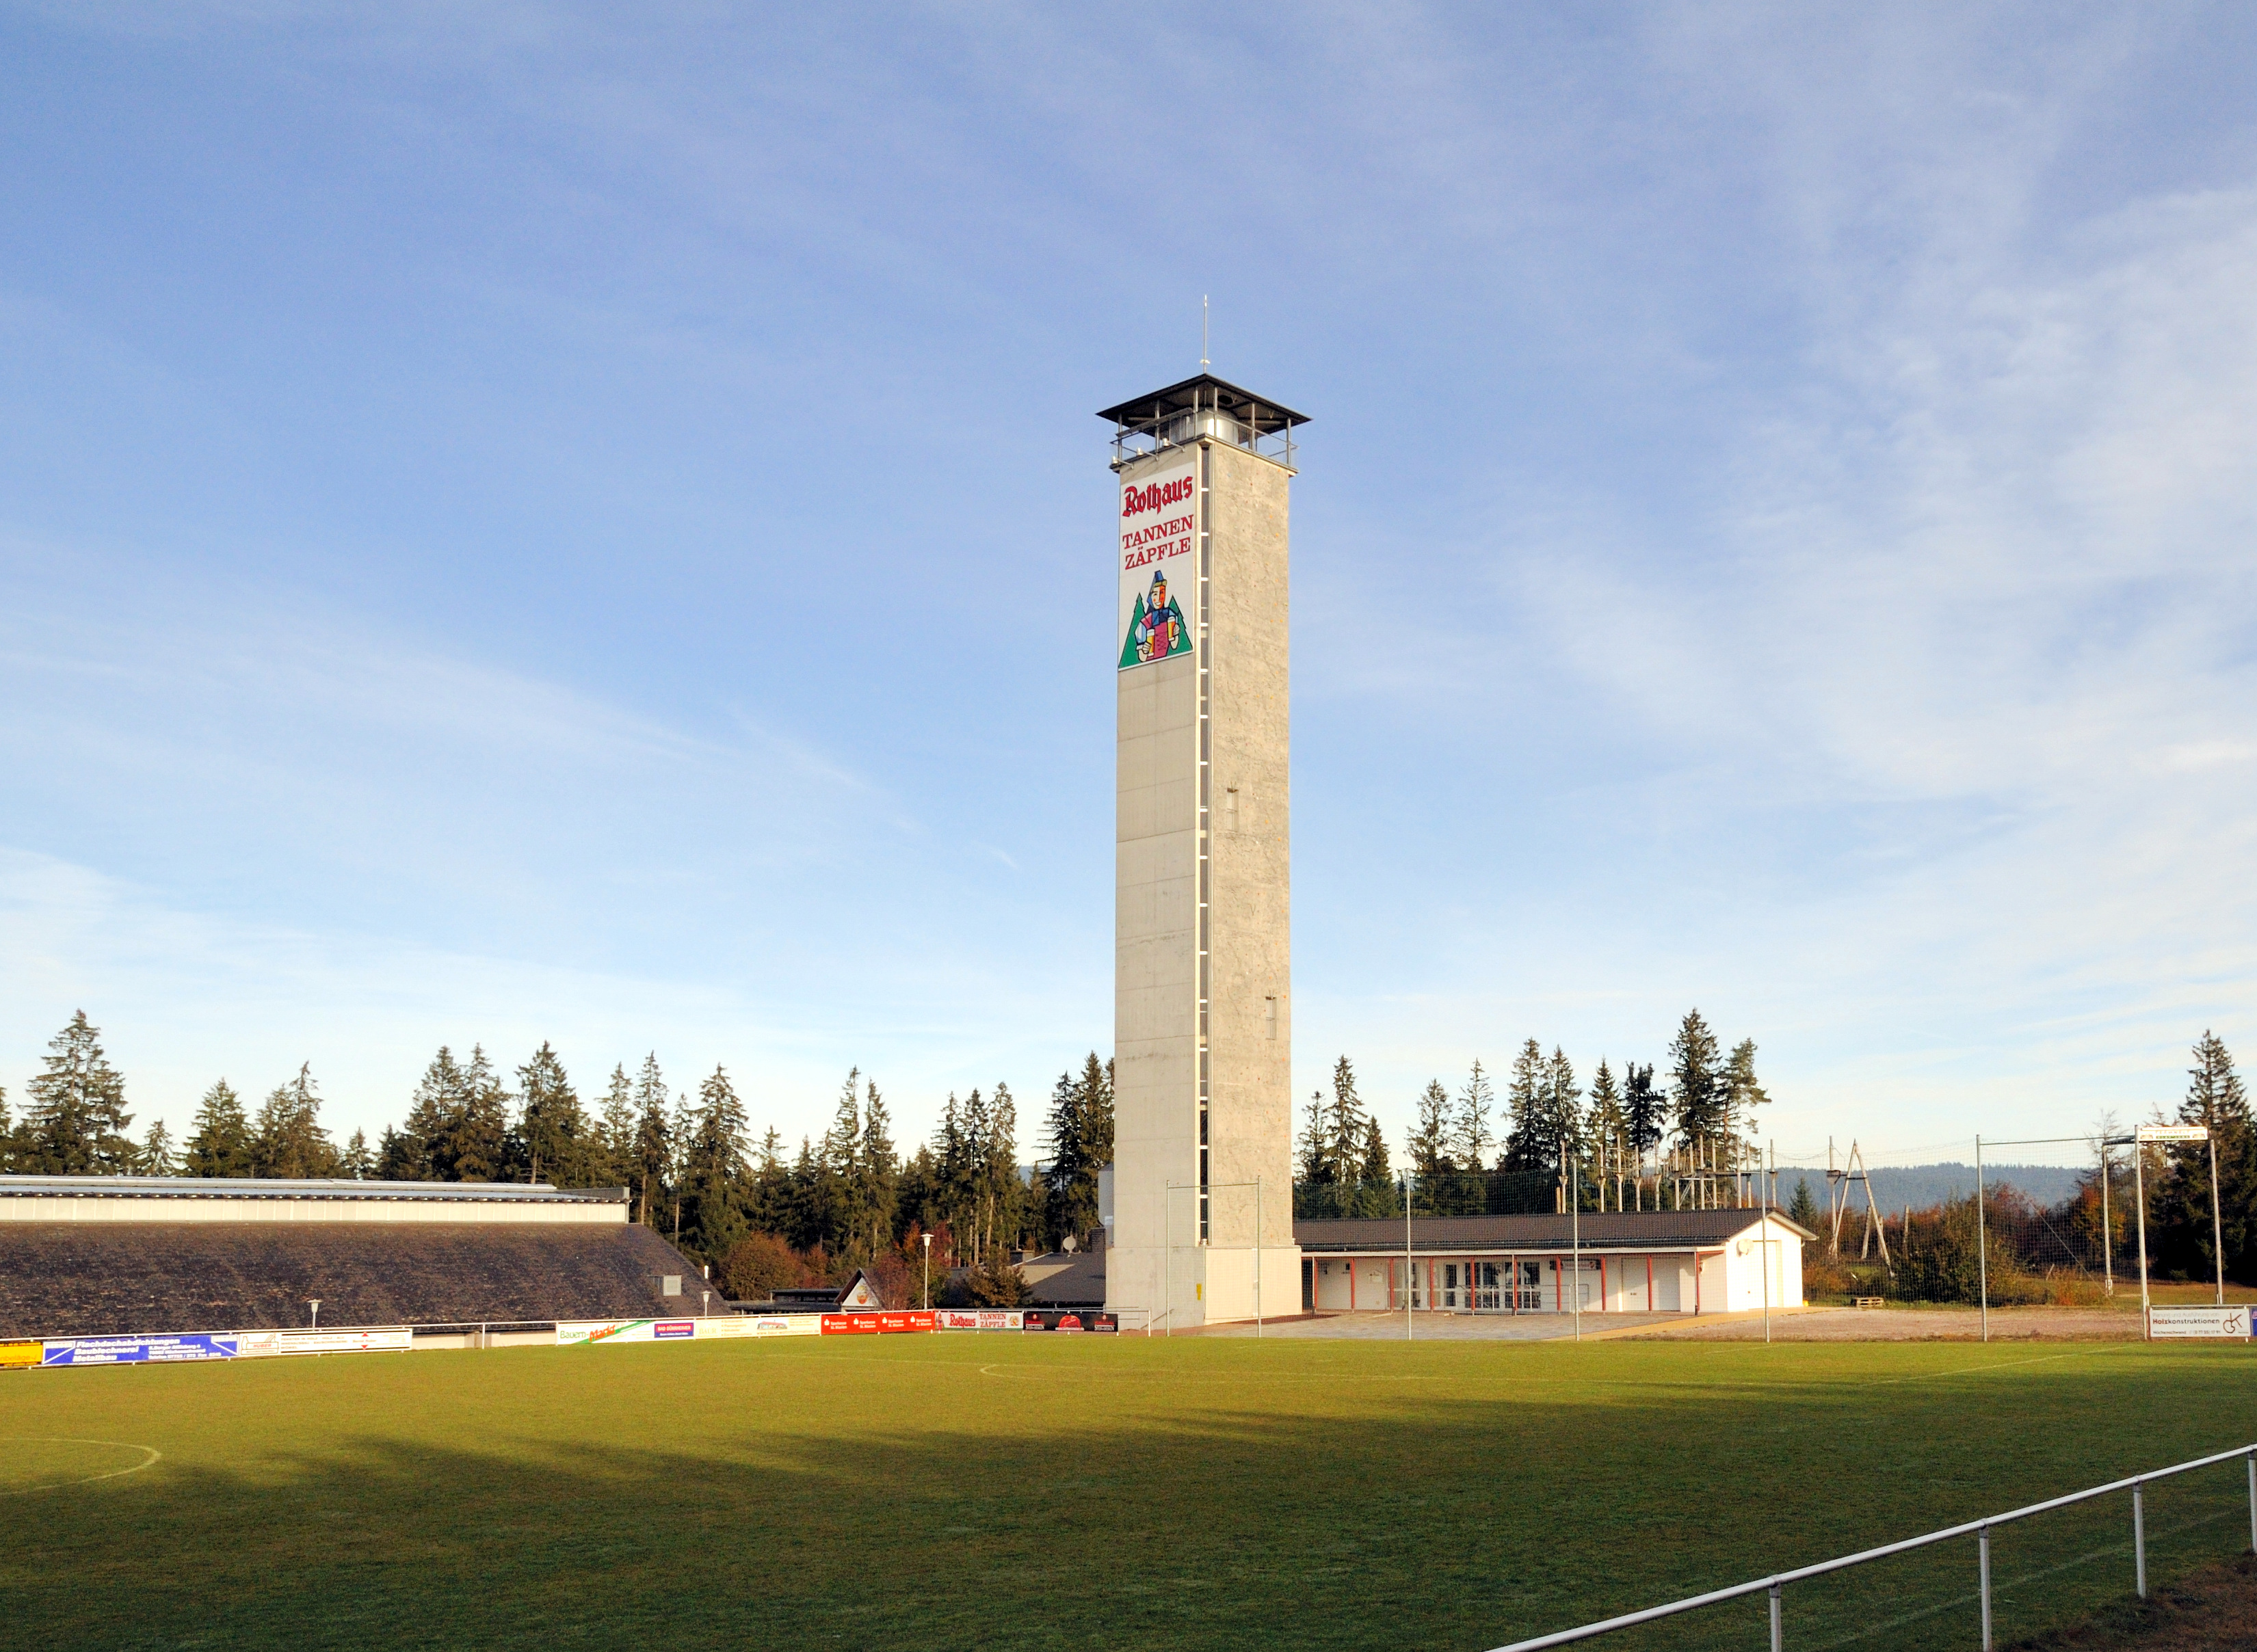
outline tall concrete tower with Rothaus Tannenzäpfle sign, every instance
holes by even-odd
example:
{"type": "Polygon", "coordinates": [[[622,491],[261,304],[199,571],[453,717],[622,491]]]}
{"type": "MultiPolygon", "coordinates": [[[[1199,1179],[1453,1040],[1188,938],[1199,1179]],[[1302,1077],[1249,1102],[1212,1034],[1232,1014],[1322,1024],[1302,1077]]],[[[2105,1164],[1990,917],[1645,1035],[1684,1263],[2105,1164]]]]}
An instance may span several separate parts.
{"type": "Polygon", "coordinates": [[[1212,375],[1122,402],[1106,1307],[1300,1311],[1286,490],[1307,420],[1212,375]]]}

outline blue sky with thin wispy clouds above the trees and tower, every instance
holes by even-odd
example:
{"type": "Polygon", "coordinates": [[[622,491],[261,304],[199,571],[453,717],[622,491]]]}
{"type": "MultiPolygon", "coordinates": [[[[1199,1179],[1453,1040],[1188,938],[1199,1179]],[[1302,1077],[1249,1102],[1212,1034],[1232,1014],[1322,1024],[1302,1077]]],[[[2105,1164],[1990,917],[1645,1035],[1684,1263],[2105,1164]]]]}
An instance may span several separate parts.
{"type": "MultiPolygon", "coordinates": [[[[1296,1070],[2248,1049],[2257,18],[0,7],[0,1083],[1110,1040],[1110,476],[1293,497],[1296,1070]]],[[[1034,1131],[1025,1131],[1034,1149],[1034,1131]]]]}

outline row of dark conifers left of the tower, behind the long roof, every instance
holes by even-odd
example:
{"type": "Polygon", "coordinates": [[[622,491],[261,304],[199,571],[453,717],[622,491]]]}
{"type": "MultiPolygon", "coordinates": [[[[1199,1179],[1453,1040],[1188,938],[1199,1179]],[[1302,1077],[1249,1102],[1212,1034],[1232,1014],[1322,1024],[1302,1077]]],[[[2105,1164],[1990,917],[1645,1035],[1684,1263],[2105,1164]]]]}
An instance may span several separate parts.
{"type": "MultiPolygon", "coordinates": [[[[724,1067],[675,1092],[657,1054],[634,1077],[614,1065],[603,1097],[582,1101],[548,1043],[506,1074],[474,1045],[424,1067],[406,1115],[375,1144],[361,1131],[339,1146],[320,1124],[309,1065],[255,1108],[219,1079],[203,1092],[185,1142],[163,1122],[144,1140],[102,1029],[72,1016],[32,1081],[25,1115],[0,1092],[0,1167],[50,1176],[287,1176],[404,1183],[548,1183],[625,1187],[632,1216],[693,1259],[747,1282],[844,1277],[869,1266],[901,1275],[986,1268],[1007,1289],[1009,1253],[1088,1241],[1097,1230],[1097,1171],[1113,1160],[1113,1063],[1095,1052],[1059,1074],[1043,1117],[1045,1160],[1018,1162],[1018,1104],[1007,1083],[950,1092],[932,1140],[903,1155],[878,1086],[853,1070],[831,1128],[797,1155],[774,1128],[758,1142],[724,1067]],[[512,1083],[515,1079],[515,1083],[512,1083]],[[749,1248],[747,1248],[749,1246],[749,1248]],[[788,1262],[779,1262],[788,1257],[788,1262]],[[781,1273],[779,1273],[781,1268],[781,1273]]],[[[1016,1275],[1013,1275],[1016,1277],[1016,1275]]],[[[724,1286],[729,1282],[724,1280],[724,1286]]],[[[905,1300],[905,1293],[898,1293],[905,1300]]]]}

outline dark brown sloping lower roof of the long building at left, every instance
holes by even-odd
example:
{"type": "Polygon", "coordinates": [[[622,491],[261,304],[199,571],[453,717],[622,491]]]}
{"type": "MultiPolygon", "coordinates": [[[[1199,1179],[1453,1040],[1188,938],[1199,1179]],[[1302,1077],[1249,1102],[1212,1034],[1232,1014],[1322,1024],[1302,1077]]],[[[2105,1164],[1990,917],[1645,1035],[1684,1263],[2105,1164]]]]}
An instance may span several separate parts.
{"type": "Polygon", "coordinates": [[[697,1264],[641,1223],[106,1221],[0,1228],[0,1336],[506,1325],[697,1313],[697,1264]],[[661,1277],[684,1295],[661,1295],[661,1277]]]}

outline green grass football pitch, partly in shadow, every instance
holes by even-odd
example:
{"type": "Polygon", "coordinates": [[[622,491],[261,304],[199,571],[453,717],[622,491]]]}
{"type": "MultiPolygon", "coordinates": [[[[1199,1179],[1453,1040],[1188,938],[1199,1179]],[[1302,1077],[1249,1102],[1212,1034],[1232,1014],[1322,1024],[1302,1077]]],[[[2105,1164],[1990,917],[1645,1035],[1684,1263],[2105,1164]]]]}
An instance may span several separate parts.
{"type": "MultiPolygon", "coordinates": [[[[11,1645],[1478,1652],[2257,1440],[2257,1356],[792,1338],[23,1372],[0,1435],[11,1645]]],[[[2153,1573],[2246,1499],[2158,1485],[2153,1573]]],[[[1995,1568],[2002,1645],[2117,1600],[2128,1503],[1995,1568]]],[[[1973,1587],[1801,1584],[1788,1645],[1968,1647],[1973,1587]]]]}

